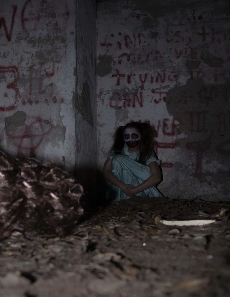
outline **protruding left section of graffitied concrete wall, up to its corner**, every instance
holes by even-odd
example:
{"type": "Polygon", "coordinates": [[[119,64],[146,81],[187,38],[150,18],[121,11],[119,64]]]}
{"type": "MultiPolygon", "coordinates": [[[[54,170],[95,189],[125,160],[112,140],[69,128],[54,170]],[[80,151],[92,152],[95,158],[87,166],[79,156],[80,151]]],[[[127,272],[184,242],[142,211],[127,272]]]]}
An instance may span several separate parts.
{"type": "Polygon", "coordinates": [[[94,0],[1,1],[2,149],[95,170],[95,59],[94,0]]]}

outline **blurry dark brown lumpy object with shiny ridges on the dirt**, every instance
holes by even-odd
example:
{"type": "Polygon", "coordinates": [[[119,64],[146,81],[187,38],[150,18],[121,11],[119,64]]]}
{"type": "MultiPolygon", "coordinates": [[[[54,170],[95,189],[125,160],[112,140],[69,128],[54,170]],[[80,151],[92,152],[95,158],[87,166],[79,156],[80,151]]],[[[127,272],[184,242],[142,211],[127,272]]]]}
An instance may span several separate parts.
{"type": "Polygon", "coordinates": [[[62,169],[1,152],[1,239],[14,230],[27,237],[64,236],[83,214],[82,194],[62,169]]]}

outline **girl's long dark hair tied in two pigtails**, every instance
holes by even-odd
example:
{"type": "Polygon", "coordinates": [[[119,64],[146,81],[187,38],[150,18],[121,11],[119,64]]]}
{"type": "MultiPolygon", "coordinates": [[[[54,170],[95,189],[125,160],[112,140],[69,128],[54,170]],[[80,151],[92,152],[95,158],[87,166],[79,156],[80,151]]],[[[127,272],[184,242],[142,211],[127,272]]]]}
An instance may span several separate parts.
{"type": "Polygon", "coordinates": [[[120,126],[116,129],[114,134],[114,143],[112,145],[111,151],[114,154],[121,154],[122,149],[125,145],[124,132],[126,128],[136,128],[141,134],[140,141],[140,156],[138,162],[141,164],[146,164],[146,160],[150,157],[153,150],[153,137],[154,130],[148,123],[140,122],[130,122],[125,126],[120,126]]]}

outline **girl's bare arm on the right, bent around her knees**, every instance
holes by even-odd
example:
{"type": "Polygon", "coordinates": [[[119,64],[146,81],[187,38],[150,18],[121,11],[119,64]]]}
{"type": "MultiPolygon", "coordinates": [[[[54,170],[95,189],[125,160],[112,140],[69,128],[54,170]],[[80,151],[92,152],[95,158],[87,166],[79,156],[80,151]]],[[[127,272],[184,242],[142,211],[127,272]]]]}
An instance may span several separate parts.
{"type": "Polygon", "coordinates": [[[147,190],[155,185],[157,185],[161,181],[161,170],[157,162],[151,162],[149,163],[149,167],[152,171],[152,175],[150,175],[149,178],[147,178],[146,181],[144,181],[142,184],[133,187],[133,188],[128,188],[127,190],[123,190],[125,195],[131,196],[133,194],[140,193],[144,190],[147,190]]]}

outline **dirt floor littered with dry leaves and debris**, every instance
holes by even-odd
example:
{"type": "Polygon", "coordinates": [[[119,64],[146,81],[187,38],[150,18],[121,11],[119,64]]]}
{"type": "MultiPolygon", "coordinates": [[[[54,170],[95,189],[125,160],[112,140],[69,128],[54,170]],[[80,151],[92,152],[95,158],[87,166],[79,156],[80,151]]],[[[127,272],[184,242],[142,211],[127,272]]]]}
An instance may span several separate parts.
{"type": "Polygon", "coordinates": [[[229,296],[228,202],[131,198],[85,218],[64,238],[3,240],[1,297],[229,296]]]}

